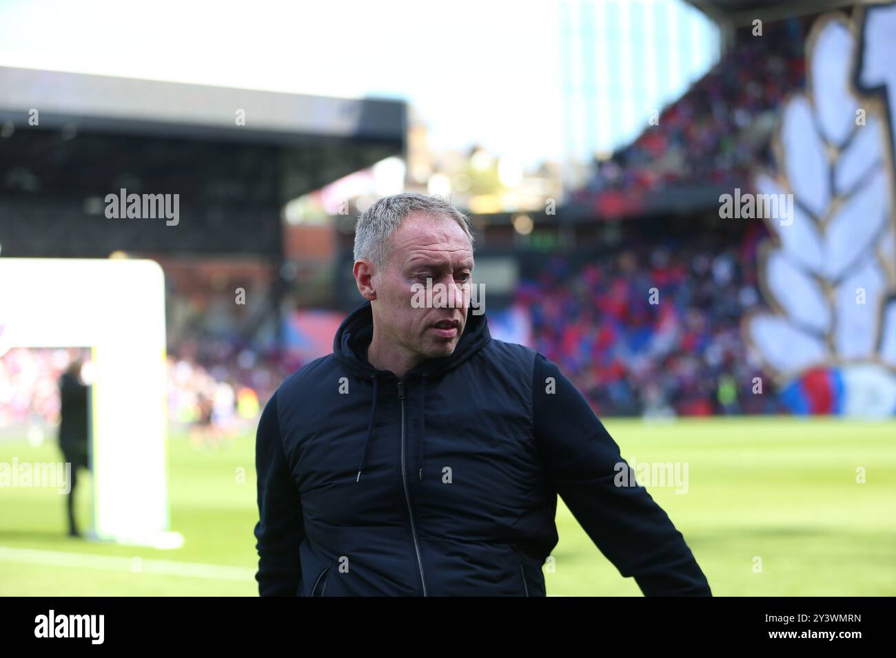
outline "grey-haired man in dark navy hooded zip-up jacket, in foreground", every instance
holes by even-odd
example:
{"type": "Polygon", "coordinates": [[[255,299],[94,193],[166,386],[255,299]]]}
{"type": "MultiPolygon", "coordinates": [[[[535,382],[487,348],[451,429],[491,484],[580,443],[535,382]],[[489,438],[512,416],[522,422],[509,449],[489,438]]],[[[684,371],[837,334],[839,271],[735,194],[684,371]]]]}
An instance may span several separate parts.
{"type": "Polygon", "coordinates": [[[644,594],[711,595],[662,508],[616,486],[627,465],[579,391],[490,337],[470,304],[472,240],[421,194],[358,219],[367,302],[258,425],[260,594],[544,596],[559,494],[644,594]],[[421,304],[424,285],[448,294],[421,304]]]}

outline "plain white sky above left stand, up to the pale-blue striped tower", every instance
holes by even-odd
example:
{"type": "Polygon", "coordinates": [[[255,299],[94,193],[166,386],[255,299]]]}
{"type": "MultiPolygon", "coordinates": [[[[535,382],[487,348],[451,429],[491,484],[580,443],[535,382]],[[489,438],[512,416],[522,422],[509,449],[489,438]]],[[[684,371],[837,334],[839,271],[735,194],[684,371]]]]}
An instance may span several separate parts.
{"type": "Polygon", "coordinates": [[[0,0],[0,65],[402,98],[435,150],[562,155],[551,2],[0,0]]]}

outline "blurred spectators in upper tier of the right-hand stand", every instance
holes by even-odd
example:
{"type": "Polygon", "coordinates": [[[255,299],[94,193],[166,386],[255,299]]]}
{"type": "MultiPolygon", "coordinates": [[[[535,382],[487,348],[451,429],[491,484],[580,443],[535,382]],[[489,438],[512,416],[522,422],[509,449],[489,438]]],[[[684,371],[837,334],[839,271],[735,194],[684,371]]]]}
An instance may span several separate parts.
{"type": "MultiPolygon", "coordinates": [[[[693,184],[745,181],[771,164],[769,132],[785,95],[805,85],[806,19],[747,28],[709,73],[664,109],[631,144],[594,163],[573,192],[585,202],[601,192],[651,192],[693,184]],[[761,124],[757,124],[761,120],[761,124]],[[753,138],[750,129],[759,134],[753,138]]],[[[646,123],[646,122],[645,122],[646,123]]]]}

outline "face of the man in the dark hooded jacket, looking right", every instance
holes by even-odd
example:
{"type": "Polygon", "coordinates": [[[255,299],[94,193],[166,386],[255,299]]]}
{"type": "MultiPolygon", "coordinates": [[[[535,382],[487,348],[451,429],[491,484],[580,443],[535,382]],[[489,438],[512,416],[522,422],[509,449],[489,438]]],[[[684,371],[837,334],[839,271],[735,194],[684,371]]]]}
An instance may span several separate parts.
{"type": "Polygon", "coordinates": [[[467,322],[472,269],[472,245],[457,222],[420,214],[404,218],[383,269],[374,275],[375,330],[420,359],[452,355],[467,322]]]}

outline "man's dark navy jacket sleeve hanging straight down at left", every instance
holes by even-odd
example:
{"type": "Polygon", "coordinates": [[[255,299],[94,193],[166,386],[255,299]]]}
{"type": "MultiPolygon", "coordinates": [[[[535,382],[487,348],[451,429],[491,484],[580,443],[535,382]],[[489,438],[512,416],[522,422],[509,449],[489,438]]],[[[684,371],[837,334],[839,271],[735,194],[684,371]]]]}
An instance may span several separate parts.
{"type": "Polygon", "coordinates": [[[296,596],[302,577],[299,545],[305,530],[302,503],[283,452],[277,393],[264,406],[258,422],[255,472],[258,476],[259,520],[254,529],[258,593],[296,596]]]}

